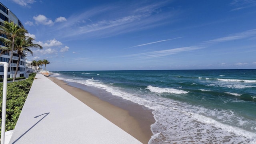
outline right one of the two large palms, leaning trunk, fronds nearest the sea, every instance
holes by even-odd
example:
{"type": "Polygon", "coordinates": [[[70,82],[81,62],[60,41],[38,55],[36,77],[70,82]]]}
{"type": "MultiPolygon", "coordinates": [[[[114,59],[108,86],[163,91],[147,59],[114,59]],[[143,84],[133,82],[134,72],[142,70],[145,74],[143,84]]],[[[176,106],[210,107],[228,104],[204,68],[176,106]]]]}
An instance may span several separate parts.
{"type": "Polygon", "coordinates": [[[33,52],[30,50],[30,48],[40,48],[42,49],[43,47],[40,46],[39,44],[33,44],[32,40],[34,40],[31,37],[28,37],[25,39],[24,37],[20,37],[20,38],[16,38],[15,40],[15,44],[16,44],[16,48],[15,50],[17,51],[19,58],[17,61],[17,65],[16,65],[16,70],[15,70],[15,74],[13,76],[13,82],[16,78],[17,72],[18,72],[18,68],[19,68],[19,64],[20,64],[20,58],[21,56],[25,56],[23,51],[26,50],[28,52],[30,52],[30,54],[33,55],[33,52]]]}

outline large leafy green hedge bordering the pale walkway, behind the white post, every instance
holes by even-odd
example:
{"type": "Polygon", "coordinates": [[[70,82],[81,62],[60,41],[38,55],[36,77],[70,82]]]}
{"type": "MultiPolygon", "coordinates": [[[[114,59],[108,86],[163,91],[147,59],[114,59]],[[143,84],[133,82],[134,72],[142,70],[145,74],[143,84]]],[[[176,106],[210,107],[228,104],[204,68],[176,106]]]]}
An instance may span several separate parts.
{"type": "MultiPolygon", "coordinates": [[[[35,76],[36,73],[32,73],[26,80],[7,84],[6,131],[14,129],[35,76]]],[[[2,124],[2,94],[3,83],[0,83],[0,127],[2,124]]]]}

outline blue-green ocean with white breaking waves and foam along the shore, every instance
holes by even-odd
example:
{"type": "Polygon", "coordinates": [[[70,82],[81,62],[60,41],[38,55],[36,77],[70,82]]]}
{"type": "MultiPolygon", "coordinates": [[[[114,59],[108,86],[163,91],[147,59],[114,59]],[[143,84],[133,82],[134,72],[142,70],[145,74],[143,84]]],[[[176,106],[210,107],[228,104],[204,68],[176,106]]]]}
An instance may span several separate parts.
{"type": "Polygon", "coordinates": [[[256,144],[256,70],[52,73],[152,109],[149,144],[256,144]]]}

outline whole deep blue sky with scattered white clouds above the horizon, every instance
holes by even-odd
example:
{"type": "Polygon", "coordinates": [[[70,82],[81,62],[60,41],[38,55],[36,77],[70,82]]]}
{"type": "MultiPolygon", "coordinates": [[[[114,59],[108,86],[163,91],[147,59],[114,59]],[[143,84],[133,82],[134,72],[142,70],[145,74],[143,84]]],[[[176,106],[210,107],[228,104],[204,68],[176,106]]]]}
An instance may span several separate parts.
{"type": "Polygon", "coordinates": [[[2,0],[48,70],[256,68],[255,0],[2,0]]]}

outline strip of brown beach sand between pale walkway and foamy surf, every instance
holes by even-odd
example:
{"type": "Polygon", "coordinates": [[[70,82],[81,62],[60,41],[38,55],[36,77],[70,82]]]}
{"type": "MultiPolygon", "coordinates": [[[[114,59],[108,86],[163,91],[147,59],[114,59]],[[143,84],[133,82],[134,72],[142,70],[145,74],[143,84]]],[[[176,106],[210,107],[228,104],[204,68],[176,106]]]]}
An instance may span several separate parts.
{"type": "Polygon", "coordinates": [[[55,77],[48,78],[143,144],[147,144],[153,135],[150,130],[150,125],[155,122],[152,110],[122,98],[97,97],[55,77]]]}

